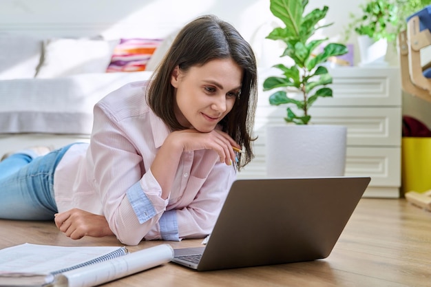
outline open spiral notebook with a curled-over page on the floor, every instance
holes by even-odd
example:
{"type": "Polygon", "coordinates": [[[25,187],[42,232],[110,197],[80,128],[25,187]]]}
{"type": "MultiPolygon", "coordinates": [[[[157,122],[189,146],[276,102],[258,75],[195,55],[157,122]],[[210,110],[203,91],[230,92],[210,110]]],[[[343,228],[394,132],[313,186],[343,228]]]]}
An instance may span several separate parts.
{"type": "Polygon", "coordinates": [[[173,257],[169,244],[132,253],[116,246],[22,244],[0,250],[0,286],[100,286],[165,264],[173,257]]]}

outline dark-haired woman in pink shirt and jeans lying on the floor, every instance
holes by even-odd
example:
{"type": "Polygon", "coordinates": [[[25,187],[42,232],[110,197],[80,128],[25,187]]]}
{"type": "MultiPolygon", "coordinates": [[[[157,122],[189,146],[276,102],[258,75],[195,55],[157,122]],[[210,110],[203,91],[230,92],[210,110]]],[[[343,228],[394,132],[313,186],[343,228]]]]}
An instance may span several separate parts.
{"type": "Polygon", "coordinates": [[[0,217],[54,218],[72,239],[116,235],[127,245],[208,235],[253,158],[256,85],[253,52],[232,25],[191,21],[150,81],[95,105],[90,144],[0,162],[0,217]]]}

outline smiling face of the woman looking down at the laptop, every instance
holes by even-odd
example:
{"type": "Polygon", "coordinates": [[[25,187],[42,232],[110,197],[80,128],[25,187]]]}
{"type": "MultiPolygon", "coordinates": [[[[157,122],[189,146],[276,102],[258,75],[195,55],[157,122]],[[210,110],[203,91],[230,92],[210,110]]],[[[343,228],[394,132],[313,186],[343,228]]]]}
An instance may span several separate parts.
{"type": "Polygon", "coordinates": [[[232,59],[215,59],[187,73],[176,67],[171,85],[176,88],[178,122],[201,132],[212,131],[231,111],[241,83],[242,68],[232,59]]]}

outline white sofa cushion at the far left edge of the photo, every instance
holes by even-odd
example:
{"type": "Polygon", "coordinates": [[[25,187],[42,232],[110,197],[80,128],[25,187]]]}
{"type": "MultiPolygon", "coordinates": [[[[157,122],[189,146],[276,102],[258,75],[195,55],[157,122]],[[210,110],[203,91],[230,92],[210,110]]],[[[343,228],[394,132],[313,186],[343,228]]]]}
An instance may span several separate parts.
{"type": "Polygon", "coordinates": [[[32,36],[0,34],[0,80],[33,78],[39,65],[42,41],[32,36]]]}

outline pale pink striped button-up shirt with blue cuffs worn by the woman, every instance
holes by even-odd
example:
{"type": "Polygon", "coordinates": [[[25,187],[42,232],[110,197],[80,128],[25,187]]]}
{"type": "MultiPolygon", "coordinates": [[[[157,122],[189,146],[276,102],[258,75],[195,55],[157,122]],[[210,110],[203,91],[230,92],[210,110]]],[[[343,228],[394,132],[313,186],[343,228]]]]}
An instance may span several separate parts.
{"type": "MultiPolygon", "coordinates": [[[[107,218],[118,240],[181,240],[211,233],[236,172],[212,150],[182,153],[167,200],[150,167],[169,127],[147,106],[147,82],[129,83],[94,107],[90,145],[72,145],[54,173],[59,212],[107,218]]],[[[166,164],[170,164],[166,162],[166,164]]]]}

